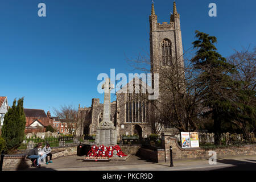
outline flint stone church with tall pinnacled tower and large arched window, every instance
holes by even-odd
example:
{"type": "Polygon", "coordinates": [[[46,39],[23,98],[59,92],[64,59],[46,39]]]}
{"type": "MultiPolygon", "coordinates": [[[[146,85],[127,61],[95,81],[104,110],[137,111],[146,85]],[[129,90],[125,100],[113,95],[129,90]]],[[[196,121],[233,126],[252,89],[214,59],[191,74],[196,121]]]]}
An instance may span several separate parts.
{"type": "MultiPolygon", "coordinates": [[[[183,67],[183,47],[180,30],[180,15],[176,10],[174,2],[173,14],[170,17],[170,23],[158,23],[157,15],[155,14],[154,4],[151,6],[150,15],[150,59],[151,73],[159,73],[160,67],[172,66],[176,61],[183,67]]],[[[160,73],[159,73],[160,75],[160,73]]],[[[150,106],[142,97],[138,97],[138,92],[122,93],[122,90],[129,88],[129,82],[121,90],[116,93],[117,100],[110,104],[110,120],[114,123],[117,130],[117,136],[134,135],[139,137],[148,137],[152,133],[152,122],[149,114],[150,106]]],[[[139,80],[141,90],[142,80],[139,80]]],[[[159,86],[161,83],[159,83],[159,86]]],[[[154,86],[154,85],[153,85],[154,86]]],[[[80,107],[78,111],[79,123],[77,125],[76,135],[95,135],[97,127],[103,118],[103,104],[100,104],[98,98],[92,99],[92,106],[80,107]]],[[[162,132],[175,132],[170,126],[164,126],[162,132]]]]}

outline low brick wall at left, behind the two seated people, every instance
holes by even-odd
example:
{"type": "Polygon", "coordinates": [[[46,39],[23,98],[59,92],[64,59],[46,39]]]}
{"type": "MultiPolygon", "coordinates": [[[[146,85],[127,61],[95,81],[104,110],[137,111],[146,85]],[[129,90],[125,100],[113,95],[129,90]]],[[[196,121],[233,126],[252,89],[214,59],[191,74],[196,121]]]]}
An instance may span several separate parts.
{"type": "MultiPolygon", "coordinates": [[[[68,147],[56,147],[52,148],[52,152],[56,150],[64,150],[52,154],[52,159],[59,158],[61,156],[69,156],[77,154],[77,145],[68,147]]],[[[5,155],[3,159],[3,170],[22,170],[31,166],[31,160],[26,160],[26,154],[17,155],[5,155]]]]}

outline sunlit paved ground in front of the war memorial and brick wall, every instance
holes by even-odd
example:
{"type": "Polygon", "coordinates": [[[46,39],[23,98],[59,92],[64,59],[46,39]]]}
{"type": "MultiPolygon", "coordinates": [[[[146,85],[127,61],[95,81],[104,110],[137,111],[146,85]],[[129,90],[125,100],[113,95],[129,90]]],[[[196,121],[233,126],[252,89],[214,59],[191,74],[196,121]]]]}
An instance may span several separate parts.
{"type": "Polygon", "coordinates": [[[53,164],[44,165],[40,168],[29,168],[28,170],[44,171],[171,171],[171,170],[255,170],[256,155],[250,156],[226,156],[217,158],[216,165],[210,165],[207,159],[174,160],[174,167],[168,163],[152,163],[131,155],[124,161],[110,162],[84,162],[80,156],[66,156],[53,160],[53,164]]]}

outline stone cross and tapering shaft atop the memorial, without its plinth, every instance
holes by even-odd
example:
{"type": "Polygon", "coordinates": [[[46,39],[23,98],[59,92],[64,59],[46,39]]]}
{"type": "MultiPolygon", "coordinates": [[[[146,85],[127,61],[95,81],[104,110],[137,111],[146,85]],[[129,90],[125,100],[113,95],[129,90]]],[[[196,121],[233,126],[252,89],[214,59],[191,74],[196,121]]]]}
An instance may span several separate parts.
{"type": "Polygon", "coordinates": [[[106,78],[102,89],[104,89],[104,107],[103,107],[103,120],[100,123],[103,126],[114,126],[110,121],[110,91],[114,85],[110,83],[110,78],[106,78]]]}

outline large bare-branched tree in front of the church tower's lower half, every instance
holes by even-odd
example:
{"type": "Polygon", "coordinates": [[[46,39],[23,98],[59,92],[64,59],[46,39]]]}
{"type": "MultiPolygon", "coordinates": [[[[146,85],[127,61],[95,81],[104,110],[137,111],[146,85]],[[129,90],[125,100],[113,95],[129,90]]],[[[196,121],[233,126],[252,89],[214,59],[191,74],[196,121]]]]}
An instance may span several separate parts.
{"type": "MultiPolygon", "coordinates": [[[[190,52],[189,52],[190,53],[190,52]]],[[[188,52],[187,52],[188,54],[188,52]]],[[[184,56],[184,55],[183,55],[184,56]]],[[[201,90],[197,88],[195,79],[197,72],[189,64],[181,64],[181,57],[170,57],[170,64],[155,64],[154,70],[159,73],[159,98],[148,100],[152,133],[158,134],[164,126],[175,127],[179,131],[195,131],[198,129],[203,106],[200,102],[201,90]]],[[[162,60],[155,59],[157,63],[162,60]]],[[[136,59],[127,59],[134,70],[150,72],[150,56],[138,55],[136,59]]]]}

